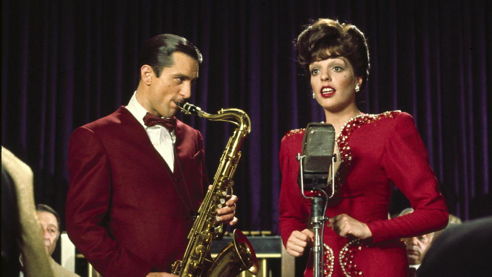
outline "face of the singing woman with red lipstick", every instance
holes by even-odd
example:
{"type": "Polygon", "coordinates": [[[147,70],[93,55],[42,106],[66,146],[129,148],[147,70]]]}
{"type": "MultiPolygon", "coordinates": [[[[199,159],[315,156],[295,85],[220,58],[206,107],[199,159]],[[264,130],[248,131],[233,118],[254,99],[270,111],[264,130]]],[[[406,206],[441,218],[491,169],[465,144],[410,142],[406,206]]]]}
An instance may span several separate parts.
{"type": "Polygon", "coordinates": [[[309,71],[316,101],[325,110],[339,112],[355,105],[355,86],[362,84],[362,77],[354,75],[354,68],[345,57],[313,62],[309,71]]]}

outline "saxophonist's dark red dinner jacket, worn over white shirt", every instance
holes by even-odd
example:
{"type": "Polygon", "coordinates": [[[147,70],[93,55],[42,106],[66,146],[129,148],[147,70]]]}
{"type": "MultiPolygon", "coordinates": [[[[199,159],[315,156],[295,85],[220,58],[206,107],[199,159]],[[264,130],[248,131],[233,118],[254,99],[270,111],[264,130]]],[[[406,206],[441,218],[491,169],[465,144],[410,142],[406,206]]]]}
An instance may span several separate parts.
{"type": "Polygon", "coordinates": [[[207,187],[199,131],[177,121],[174,173],[124,107],[69,145],[67,233],[105,277],[171,270],[207,187]]]}

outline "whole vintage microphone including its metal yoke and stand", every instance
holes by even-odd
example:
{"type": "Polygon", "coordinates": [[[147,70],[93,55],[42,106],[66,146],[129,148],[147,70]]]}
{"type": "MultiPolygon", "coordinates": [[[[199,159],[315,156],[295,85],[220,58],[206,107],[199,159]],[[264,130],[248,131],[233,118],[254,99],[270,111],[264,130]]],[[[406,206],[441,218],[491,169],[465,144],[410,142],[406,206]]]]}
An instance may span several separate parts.
{"type": "Polygon", "coordinates": [[[326,123],[309,123],[302,138],[302,155],[297,153],[299,161],[299,179],[302,196],[311,199],[311,224],[314,229],[313,276],[323,275],[323,231],[324,216],[328,199],[335,194],[335,128],[326,123]],[[331,170],[330,170],[331,165],[331,170]],[[329,186],[331,171],[331,195],[329,186]],[[322,196],[306,196],[304,191],[320,191],[322,196]],[[323,197],[324,196],[324,197],[323,197]],[[324,202],[324,206],[322,205],[324,202]]]}

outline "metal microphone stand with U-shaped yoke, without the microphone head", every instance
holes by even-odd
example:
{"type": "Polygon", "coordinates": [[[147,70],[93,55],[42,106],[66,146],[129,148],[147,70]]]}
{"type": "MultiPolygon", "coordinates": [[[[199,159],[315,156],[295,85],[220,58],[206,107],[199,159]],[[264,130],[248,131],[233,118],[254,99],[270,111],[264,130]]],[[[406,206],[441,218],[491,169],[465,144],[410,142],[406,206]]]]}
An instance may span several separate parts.
{"type": "Polygon", "coordinates": [[[327,216],[324,216],[326,213],[326,206],[328,203],[328,199],[333,197],[335,194],[335,162],[337,160],[337,155],[333,154],[332,156],[332,195],[328,196],[326,191],[314,188],[315,190],[321,191],[324,196],[326,196],[326,201],[324,203],[324,208],[322,206],[324,197],[322,196],[314,196],[309,197],[304,194],[304,173],[302,162],[304,160],[305,155],[301,155],[297,153],[297,161],[299,161],[299,172],[301,174],[301,193],[305,199],[311,199],[311,225],[314,229],[314,246],[313,246],[313,277],[321,277],[323,276],[323,234],[322,230],[324,229],[324,223],[329,219],[327,216]]]}

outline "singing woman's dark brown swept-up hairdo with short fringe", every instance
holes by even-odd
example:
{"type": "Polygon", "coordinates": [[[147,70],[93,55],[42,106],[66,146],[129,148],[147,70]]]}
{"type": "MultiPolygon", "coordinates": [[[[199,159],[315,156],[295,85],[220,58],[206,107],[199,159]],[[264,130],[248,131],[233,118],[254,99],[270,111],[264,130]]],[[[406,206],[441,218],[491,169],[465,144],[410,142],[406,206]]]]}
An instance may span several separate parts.
{"type": "Polygon", "coordinates": [[[362,76],[361,89],[369,75],[369,51],[364,34],[352,24],[321,18],[306,27],[297,37],[297,62],[309,73],[309,65],[326,58],[345,57],[362,76]],[[330,52],[330,55],[327,54],[330,52]]]}

